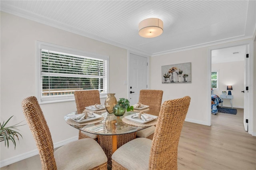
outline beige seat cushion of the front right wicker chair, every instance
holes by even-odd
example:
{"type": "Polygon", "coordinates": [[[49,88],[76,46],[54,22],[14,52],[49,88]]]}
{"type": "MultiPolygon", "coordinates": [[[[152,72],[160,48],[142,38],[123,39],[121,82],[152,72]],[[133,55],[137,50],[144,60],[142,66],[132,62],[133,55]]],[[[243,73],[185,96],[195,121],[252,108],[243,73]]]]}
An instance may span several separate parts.
{"type": "Polygon", "coordinates": [[[152,140],[136,138],[118,148],[112,160],[129,170],[147,170],[152,140]]]}

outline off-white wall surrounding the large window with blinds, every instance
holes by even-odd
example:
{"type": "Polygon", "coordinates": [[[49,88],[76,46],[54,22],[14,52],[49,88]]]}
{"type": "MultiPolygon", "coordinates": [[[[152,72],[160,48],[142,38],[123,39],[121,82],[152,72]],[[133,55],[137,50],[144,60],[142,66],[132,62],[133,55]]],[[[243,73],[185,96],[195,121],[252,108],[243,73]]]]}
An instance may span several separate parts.
{"type": "MultiPolygon", "coordinates": [[[[70,32],[46,26],[24,18],[1,12],[1,123],[14,115],[9,125],[25,118],[21,101],[36,96],[36,41],[48,42],[84,51],[109,55],[109,92],[116,98],[127,97],[127,50],[107,43],[85,38],[70,32]],[[120,78],[121,77],[121,78],[120,78]]],[[[105,99],[101,99],[104,103],[105,99]]],[[[64,115],[76,110],[74,101],[41,105],[50,128],[53,142],[72,138],[78,130],[64,121],[64,115]]],[[[26,123],[26,121],[24,121],[26,123]]],[[[9,148],[1,142],[1,161],[16,155],[36,150],[36,144],[28,125],[19,128],[23,139],[9,148]]]]}

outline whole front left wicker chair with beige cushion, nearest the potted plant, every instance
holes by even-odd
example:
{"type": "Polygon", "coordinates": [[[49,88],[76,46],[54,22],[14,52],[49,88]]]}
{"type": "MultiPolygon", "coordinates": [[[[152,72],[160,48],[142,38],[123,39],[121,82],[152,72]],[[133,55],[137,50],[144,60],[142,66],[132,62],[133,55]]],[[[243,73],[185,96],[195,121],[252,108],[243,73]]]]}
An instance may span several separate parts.
{"type": "Polygon", "coordinates": [[[76,140],[54,152],[52,136],[36,97],[22,101],[22,110],[39,151],[42,170],[106,170],[107,157],[91,138],[76,140]]]}

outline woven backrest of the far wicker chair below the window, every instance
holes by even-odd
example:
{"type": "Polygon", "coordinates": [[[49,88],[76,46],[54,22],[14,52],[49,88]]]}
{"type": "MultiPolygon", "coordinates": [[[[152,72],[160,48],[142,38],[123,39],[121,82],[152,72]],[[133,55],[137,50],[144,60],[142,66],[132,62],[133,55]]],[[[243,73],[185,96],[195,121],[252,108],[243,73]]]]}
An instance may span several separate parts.
{"type": "Polygon", "coordinates": [[[100,104],[100,92],[98,90],[74,91],[76,110],[82,113],[85,107],[100,104]]]}

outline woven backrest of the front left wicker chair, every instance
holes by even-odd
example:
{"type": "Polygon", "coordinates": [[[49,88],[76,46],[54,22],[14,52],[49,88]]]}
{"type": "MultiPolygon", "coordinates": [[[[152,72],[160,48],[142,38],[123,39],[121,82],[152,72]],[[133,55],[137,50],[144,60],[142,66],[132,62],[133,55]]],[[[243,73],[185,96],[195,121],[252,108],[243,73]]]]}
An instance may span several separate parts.
{"type": "Polygon", "coordinates": [[[22,101],[22,110],[28,126],[36,141],[42,169],[56,170],[52,136],[36,97],[27,97],[22,101]]]}

